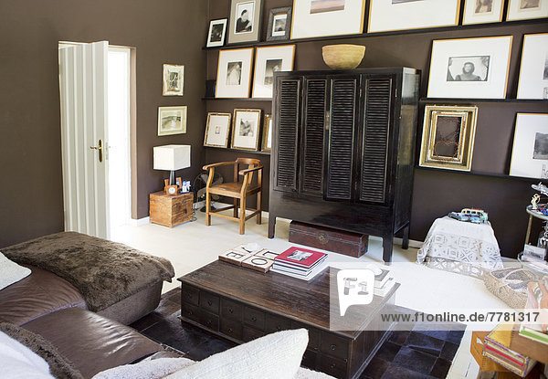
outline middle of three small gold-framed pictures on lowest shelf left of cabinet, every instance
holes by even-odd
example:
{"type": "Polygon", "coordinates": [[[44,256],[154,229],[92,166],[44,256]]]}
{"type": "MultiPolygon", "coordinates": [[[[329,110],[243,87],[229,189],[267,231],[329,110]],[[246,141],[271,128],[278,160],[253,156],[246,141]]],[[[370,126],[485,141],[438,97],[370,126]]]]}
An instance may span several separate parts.
{"type": "Polygon", "coordinates": [[[232,126],[233,149],[258,150],[260,110],[234,110],[232,126]]]}

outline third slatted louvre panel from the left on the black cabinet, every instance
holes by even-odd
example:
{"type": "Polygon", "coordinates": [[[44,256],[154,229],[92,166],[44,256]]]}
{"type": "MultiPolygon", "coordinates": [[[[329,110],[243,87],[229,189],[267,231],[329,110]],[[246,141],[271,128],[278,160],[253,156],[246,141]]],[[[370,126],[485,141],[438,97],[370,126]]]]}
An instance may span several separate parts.
{"type": "Polygon", "coordinates": [[[352,198],[355,79],[332,80],[331,125],[329,134],[329,178],[327,197],[352,198]]]}

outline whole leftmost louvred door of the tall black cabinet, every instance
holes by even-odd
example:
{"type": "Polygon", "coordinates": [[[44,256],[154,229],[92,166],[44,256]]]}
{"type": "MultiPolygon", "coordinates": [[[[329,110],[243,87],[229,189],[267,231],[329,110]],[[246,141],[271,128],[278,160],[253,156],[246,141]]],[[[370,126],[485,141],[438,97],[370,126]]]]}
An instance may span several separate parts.
{"type": "Polygon", "coordinates": [[[274,189],[297,191],[298,143],[300,121],[300,79],[279,77],[276,82],[274,111],[275,152],[274,189]]]}

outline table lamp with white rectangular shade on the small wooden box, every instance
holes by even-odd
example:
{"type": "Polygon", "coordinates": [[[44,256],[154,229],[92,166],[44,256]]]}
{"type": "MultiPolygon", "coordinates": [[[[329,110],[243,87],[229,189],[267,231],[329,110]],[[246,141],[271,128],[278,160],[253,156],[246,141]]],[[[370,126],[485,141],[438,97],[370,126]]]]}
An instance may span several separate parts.
{"type": "Polygon", "coordinates": [[[170,171],[169,181],[164,180],[167,195],[176,195],[182,187],[181,178],[175,179],[175,170],[190,167],[190,145],[155,146],[154,170],[170,171]]]}

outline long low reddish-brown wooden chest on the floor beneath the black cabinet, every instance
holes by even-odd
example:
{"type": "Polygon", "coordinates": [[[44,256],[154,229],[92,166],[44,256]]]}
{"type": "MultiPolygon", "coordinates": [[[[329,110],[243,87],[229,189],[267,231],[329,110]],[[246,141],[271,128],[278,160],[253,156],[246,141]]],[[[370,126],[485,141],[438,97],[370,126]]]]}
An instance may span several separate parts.
{"type": "Polygon", "coordinates": [[[290,242],[359,258],[367,252],[369,236],[291,221],[290,242]]]}

